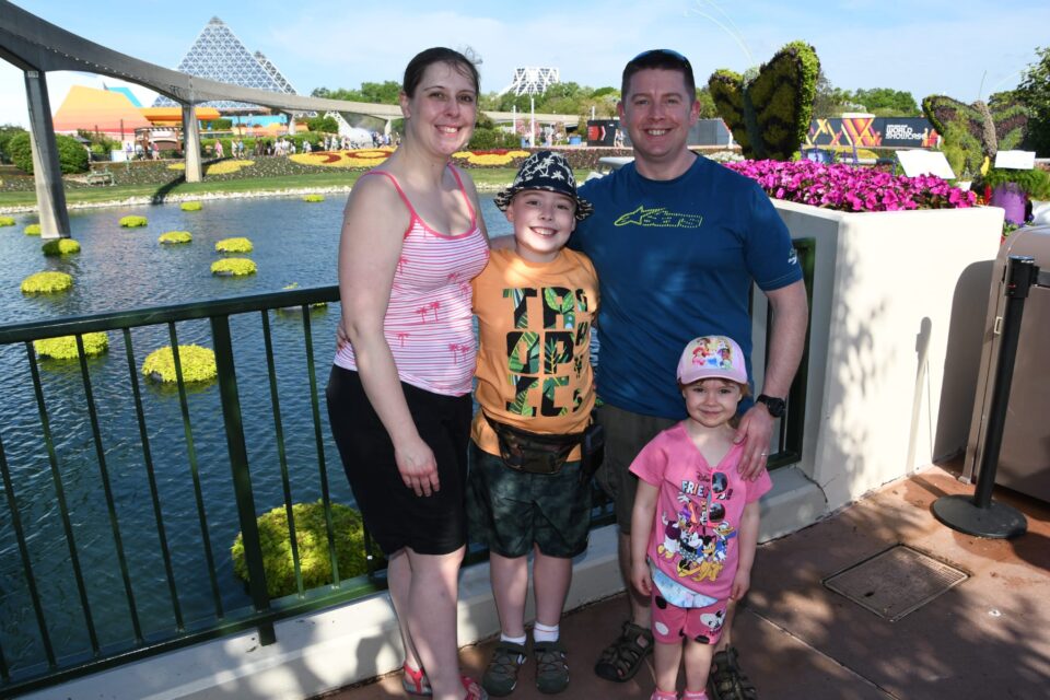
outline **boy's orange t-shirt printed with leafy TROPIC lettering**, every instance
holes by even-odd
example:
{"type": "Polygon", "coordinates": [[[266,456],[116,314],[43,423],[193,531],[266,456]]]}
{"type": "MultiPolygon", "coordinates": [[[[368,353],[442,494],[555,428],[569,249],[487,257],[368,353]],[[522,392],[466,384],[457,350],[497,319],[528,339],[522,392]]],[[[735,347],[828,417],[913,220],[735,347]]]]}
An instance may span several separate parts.
{"type": "MultiPolygon", "coordinates": [[[[591,326],[598,311],[598,276],[591,259],[563,248],[550,262],[514,250],[492,250],[474,278],[478,318],[475,398],[501,423],[534,433],[583,431],[594,409],[591,326]]],[[[500,454],[481,411],[474,442],[500,454]]],[[[576,447],[569,459],[580,458],[576,447]]]]}

